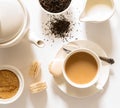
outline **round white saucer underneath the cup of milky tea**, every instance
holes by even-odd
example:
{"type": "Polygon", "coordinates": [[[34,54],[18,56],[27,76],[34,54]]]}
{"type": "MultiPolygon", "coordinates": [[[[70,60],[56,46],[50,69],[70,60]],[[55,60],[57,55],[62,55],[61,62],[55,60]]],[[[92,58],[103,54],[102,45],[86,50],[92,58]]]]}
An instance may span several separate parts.
{"type": "MultiPolygon", "coordinates": [[[[104,50],[100,46],[88,40],[73,41],[68,43],[65,46],[68,46],[68,45],[71,47],[74,47],[77,45],[80,48],[88,48],[93,50],[95,53],[97,53],[100,56],[107,56],[104,50]]],[[[64,59],[65,56],[66,56],[66,52],[62,48],[60,48],[55,59],[57,58],[64,59]]],[[[109,77],[109,64],[102,62],[102,71],[103,72],[99,78],[98,84],[102,88],[104,88],[109,77]]],[[[72,87],[66,82],[63,76],[54,77],[54,80],[57,83],[57,86],[59,87],[60,90],[62,90],[65,94],[72,97],[84,98],[101,91],[101,90],[98,90],[95,86],[89,87],[87,89],[78,89],[78,88],[72,87]]]]}

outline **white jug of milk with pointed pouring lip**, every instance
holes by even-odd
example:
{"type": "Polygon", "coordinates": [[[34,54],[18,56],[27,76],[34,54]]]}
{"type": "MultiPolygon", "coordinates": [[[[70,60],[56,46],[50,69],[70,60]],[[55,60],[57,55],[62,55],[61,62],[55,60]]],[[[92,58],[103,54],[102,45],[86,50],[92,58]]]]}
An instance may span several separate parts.
{"type": "Polygon", "coordinates": [[[85,0],[80,15],[83,22],[103,22],[111,18],[115,11],[113,0],[85,0]]]}

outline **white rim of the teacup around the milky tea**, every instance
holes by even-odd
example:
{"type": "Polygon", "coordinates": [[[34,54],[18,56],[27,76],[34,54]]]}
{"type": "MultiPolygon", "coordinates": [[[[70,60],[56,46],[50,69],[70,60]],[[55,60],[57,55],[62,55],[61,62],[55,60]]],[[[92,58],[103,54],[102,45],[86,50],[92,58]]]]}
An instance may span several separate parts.
{"type": "Polygon", "coordinates": [[[66,80],[71,86],[76,87],[76,88],[88,88],[88,87],[91,87],[92,85],[96,84],[97,81],[98,81],[99,75],[100,75],[100,70],[101,70],[101,60],[99,59],[98,55],[97,55],[95,52],[93,52],[93,51],[91,51],[91,50],[89,50],[89,49],[86,49],[86,48],[77,49],[77,50],[74,50],[74,51],[70,52],[70,53],[66,56],[66,58],[65,58],[65,60],[64,60],[64,63],[63,63],[63,67],[62,67],[62,72],[63,72],[63,76],[64,76],[65,80],[66,80]],[[77,84],[77,83],[71,81],[71,80],[68,78],[68,76],[67,76],[67,74],[66,74],[66,72],[65,72],[65,65],[66,65],[67,60],[68,60],[73,54],[78,53],[78,52],[85,52],[85,53],[90,54],[90,55],[96,60],[96,63],[97,63],[97,66],[98,66],[96,76],[93,78],[93,80],[91,80],[89,83],[86,83],[86,84],[77,84]]]}

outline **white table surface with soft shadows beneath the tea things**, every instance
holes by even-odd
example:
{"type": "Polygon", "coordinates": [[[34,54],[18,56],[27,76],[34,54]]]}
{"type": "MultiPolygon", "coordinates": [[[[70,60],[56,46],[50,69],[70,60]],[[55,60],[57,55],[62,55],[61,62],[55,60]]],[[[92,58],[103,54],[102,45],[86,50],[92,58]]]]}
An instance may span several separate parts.
{"type": "Polygon", "coordinates": [[[110,67],[110,75],[104,91],[92,97],[78,99],[64,94],[55,84],[49,73],[48,65],[59,48],[67,43],[44,35],[43,26],[49,15],[41,10],[38,0],[22,0],[30,15],[30,29],[41,39],[45,47],[38,48],[23,39],[14,47],[0,49],[0,65],[9,64],[19,68],[25,79],[25,88],[21,97],[12,104],[0,105],[0,108],[120,108],[120,1],[114,0],[116,11],[109,21],[104,23],[83,23],[79,21],[82,0],[73,0],[72,13],[66,16],[75,23],[69,41],[88,39],[100,45],[106,54],[115,59],[110,67]],[[78,31],[77,31],[78,30],[78,31]],[[54,42],[52,40],[54,39],[54,42]],[[46,81],[47,89],[41,93],[31,94],[29,85],[29,68],[33,61],[41,63],[41,80],[46,81]]]}

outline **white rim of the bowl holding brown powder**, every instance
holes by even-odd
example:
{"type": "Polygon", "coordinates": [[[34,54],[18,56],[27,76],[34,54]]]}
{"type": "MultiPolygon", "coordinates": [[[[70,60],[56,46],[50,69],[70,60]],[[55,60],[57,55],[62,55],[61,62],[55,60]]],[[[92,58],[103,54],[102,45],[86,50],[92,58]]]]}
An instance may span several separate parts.
{"type": "Polygon", "coordinates": [[[14,66],[3,65],[3,66],[0,66],[0,70],[10,70],[10,71],[12,71],[18,77],[18,80],[19,80],[19,89],[18,89],[17,93],[13,97],[11,97],[11,98],[0,99],[0,104],[13,103],[14,101],[16,101],[21,96],[21,94],[23,92],[23,89],[24,89],[24,79],[23,79],[23,76],[22,76],[20,70],[18,70],[14,66]]]}

